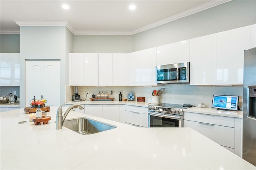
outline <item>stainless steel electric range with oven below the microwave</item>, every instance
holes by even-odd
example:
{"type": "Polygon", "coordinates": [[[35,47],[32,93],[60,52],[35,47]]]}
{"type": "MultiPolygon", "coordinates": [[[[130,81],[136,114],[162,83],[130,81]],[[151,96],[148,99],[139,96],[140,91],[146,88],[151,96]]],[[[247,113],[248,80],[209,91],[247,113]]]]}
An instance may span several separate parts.
{"type": "Polygon", "coordinates": [[[192,105],[150,104],[148,105],[148,127],[183,127],[183,109],[188,107],[192,105]]]}

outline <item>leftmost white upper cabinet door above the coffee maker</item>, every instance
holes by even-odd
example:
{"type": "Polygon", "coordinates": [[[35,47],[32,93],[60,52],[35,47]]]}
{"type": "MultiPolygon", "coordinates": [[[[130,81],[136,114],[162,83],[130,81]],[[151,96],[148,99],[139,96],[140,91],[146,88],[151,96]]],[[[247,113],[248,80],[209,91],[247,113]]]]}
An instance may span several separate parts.
{"type": "Polygon", "coordinates": [[[84,86],[85,74],[85,58],[84,53],[70,54],[70,85],[84,86]]]}

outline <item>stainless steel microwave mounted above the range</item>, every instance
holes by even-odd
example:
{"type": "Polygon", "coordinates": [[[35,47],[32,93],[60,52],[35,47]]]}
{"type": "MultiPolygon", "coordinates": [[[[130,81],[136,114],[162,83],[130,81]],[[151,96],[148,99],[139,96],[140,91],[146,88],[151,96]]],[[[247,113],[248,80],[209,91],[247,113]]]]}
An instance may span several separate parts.
{"type": "Polygon", "coordinates": [[[189,62],[156,66],[156,83],[189,83],[189,62]]]}

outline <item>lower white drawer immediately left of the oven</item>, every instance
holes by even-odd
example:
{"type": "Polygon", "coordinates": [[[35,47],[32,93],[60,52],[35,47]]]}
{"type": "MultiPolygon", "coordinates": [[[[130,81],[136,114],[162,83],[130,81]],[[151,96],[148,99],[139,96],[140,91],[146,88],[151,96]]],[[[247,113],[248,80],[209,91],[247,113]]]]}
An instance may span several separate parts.
{"type": "Polygon", "coordinates": [[[148,114],[137,111],[124,111],[124,123],[148,127],[148,114]]]}

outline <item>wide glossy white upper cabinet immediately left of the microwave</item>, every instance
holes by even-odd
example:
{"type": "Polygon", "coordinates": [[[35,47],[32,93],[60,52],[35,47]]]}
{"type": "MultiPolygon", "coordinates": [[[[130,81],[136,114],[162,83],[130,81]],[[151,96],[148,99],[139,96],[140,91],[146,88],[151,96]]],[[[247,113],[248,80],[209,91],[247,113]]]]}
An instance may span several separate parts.
{"type": "Polygon", "coordinates": [[[128,53],[129,86],[156,86],[156,47],[128,53]]]}

